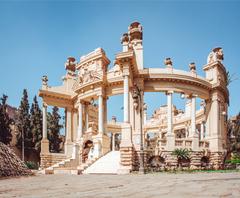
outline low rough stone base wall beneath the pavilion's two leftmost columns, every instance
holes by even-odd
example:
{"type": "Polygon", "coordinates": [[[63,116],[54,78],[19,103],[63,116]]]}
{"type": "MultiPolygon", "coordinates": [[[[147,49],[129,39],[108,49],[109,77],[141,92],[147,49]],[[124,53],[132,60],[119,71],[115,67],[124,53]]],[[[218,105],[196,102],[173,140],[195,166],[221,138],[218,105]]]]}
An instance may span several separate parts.
{"type": "Polygon", "coordinates": [[[56,163],[64,161],[67,157],[61,153],[48,153],[40,154],[41,157],[41,168],[48,168],[56,163]]]}

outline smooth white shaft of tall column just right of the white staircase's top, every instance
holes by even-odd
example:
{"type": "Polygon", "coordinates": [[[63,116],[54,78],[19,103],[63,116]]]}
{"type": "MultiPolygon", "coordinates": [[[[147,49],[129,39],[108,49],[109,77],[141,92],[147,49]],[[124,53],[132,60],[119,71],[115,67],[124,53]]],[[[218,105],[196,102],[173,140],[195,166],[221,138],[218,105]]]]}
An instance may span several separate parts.
{"type": "Polygon", "coordinates": [[[124,94],[124,122],[129,122],[129,76],[124,76],[123,82],[123,94],[124,94]]]}

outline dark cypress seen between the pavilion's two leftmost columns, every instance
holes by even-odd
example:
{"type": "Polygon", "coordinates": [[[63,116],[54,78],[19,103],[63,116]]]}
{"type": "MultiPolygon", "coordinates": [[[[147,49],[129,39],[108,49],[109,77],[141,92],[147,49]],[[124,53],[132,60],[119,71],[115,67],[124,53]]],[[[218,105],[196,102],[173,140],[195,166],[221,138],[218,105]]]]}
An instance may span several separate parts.
{"type": "Polygon", "coordinates": [[[62,142],[60,138],[60,130],[63,126],[60,124],[61,116],[58,113],[58,107],[53,107],[52,113],[48,113],[48,140],[51,152],[59,153],[60,143],[62,142]]]}

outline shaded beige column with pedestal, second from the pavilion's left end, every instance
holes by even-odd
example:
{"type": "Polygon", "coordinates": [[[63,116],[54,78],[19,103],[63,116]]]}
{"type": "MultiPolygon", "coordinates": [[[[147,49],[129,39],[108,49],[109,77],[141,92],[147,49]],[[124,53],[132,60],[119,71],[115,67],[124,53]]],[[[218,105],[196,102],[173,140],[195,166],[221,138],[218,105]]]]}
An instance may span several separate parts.
{"type": "Polygon", "coordinates": [[[73,152],[72,142],[72,108],[66,108],[66,142],[65,142],[65,154],[71,156],[73,152]]]}

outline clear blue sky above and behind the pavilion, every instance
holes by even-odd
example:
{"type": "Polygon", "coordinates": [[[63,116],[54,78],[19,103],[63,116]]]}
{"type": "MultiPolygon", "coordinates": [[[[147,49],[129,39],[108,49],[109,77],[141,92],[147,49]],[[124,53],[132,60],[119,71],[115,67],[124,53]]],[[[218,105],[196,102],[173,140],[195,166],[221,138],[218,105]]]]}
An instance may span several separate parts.
{"type": "MultiPolygon", "coordinates": [[[[0,94],[19,106],[22,90],[29,100],[48,75],[49,84],[61,84],[68,56],[79,60],[102,47],[113,62],[121,51],[120,37],[128,25],[143,26],[144,67],[163,67],[172,57],[174,68],[202,66],[213,47],[224,49],[226,69],[240,76],[240,3],[237,1],[2,1],[0,0],[0,94]]],[[[111,63],[112,66],[112,63],[111,63]]],[[[230,86],[229,115],[240,111],[239,80],[230,86]]],[[[163,94],[146,94],[149,114],[164,104],[163,94]],[[155,101],[154,103],[152,101],[155,101]]],[[[177,106],[183,101],[174,98],[177,106]]],[[[122,97],[109,101],[108,117],[122,118],[122,97]],[[118,106],[114,103],[118,102],[118,106]]]]}

